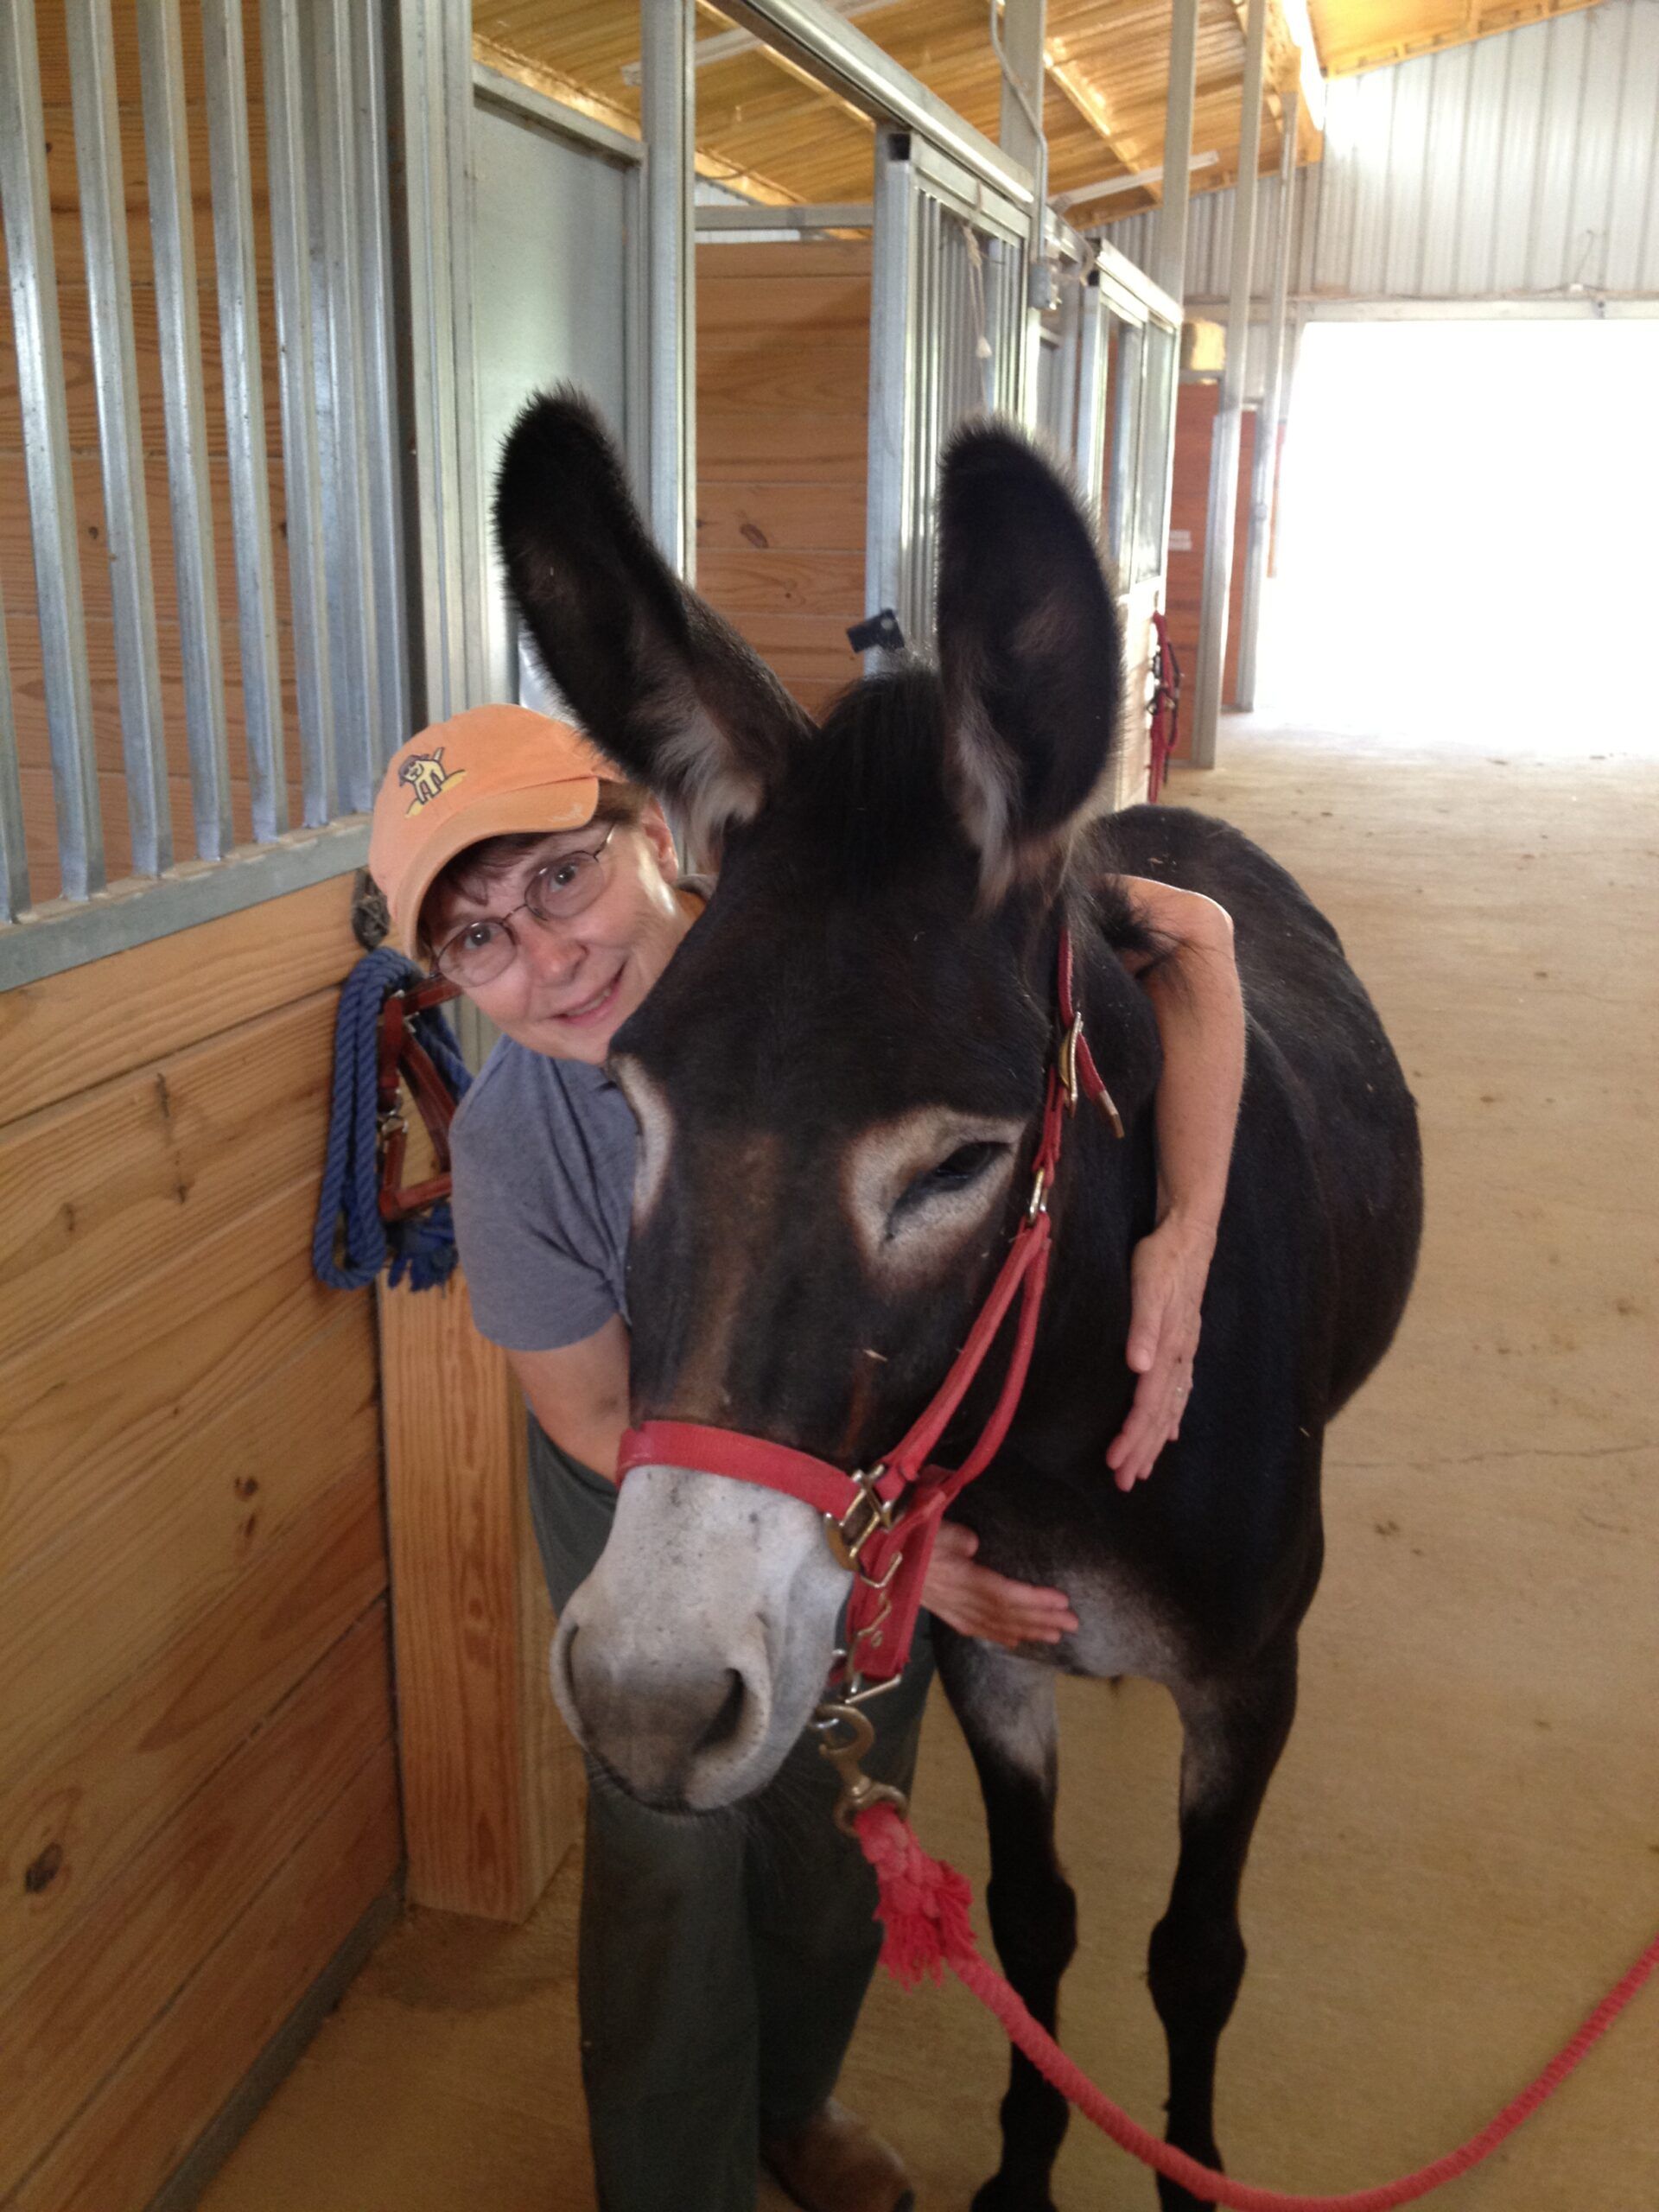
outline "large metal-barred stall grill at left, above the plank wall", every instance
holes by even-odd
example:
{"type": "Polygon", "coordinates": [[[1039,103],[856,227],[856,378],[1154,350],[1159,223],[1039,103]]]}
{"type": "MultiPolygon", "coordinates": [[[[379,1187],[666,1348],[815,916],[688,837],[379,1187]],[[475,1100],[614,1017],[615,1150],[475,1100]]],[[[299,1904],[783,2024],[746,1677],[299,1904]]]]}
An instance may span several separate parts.
{"type": "Polygon", "coordinates": [[[0,987],[352,867],[409,728],[380,11],[44,29],[0,0],[0,987]]]}

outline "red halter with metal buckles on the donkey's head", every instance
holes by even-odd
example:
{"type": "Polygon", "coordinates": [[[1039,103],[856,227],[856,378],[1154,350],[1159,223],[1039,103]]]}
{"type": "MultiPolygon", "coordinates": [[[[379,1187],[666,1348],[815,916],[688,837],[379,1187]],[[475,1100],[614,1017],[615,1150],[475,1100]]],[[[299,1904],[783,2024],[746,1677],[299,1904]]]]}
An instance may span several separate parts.
{"type": "Polygon", "coordinates": [[[745,1436],[741,1429],[712,1429],[699,1420],[648,1420],[622,1438],[617,1482],[635,1467],[692,1467],[710,1475],[732,1475],[739,1482],[785,1491],[823,1513],[830,1548],[841,1566],[854,1573],[843,1661],[854,1688],[860,1681],[885,1683],[902,1672],[916,1632],[922,1579],[933,1557],[933,1540],[945,1509],[991,1464],[1020,1405],[1031,1347],[1037,1338],[1042,1287],[1048,1276],[1053,1234],[1048,1192],[1060,1168],[1066,1115],[1075,1113],[1079,1091],[1088,1093],[1108,1115],[1115,1133],[1124,1135],[1124,1124],[1084,1040],[1084,1018],[1073,1004],[1071,936],[1064,929],[1060,931],[1057,998],[1062,1035],[1048,1068],[1042,1135],[1031,1161],[1026,1217],[967,1343],[951,1363],[951,1371],[905,1440],[869,1471],[849,1475],[807,1451],[768,1444],[765,1438],[745,1436]],[[1015,1296],[1020,1298],[1020,1318],[995,1409],[960,1467],[931,1467],[927,1455],[984,1365],[1015,1296]]]}

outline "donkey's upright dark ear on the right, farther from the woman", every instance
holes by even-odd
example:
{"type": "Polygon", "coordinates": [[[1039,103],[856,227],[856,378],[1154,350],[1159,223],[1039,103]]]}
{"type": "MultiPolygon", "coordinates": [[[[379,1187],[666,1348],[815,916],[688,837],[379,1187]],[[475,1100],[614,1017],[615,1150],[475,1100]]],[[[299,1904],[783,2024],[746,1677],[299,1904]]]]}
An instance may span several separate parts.
{"type": "Polygon", "coordinates": [[[993,422],[945,456],[938,661],[951,792],[995,894],[1053,849],[1106,774],[1121,641],[1075,498],[993,422]]]}

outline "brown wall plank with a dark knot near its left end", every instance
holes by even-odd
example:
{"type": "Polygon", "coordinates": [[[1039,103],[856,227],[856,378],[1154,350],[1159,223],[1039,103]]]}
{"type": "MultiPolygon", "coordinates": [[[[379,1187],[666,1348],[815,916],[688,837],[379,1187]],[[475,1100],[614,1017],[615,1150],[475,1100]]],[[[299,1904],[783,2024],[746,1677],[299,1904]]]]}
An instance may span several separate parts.
{"type": "MultiPolygon", "coordinates": [[[[367,1307],[367,1298],[363,1301],[367,1307]]],[[[139,1681],[0,1778],[0,1955],[27,1973],[385,1590],[378,1455],[294,1515],[139,1681]]]]}

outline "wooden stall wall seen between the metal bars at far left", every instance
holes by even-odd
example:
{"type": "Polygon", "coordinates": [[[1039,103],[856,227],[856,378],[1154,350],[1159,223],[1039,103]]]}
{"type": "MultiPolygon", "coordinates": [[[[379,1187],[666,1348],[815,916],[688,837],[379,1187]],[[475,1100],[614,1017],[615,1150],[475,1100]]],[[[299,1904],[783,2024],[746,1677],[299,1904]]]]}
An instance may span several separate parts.
{"type": "MultiPolygon", "coordinates": [[[[148,0],[144,0],[148,4],[148,0]]],[[[161,706],[168,732],[168,794],[177,852],[195,852],[190,830],[190,774],[184,739],[184,672],[179,657],[177,586],[173,577],[173,524],[168,513],[166,422],[161,407],[161,341],[157,330],[155,261],[150,248],[150,197],[144,166],[144,111],[137,66],[139,0],[113,0],[117,113],[122,177],[126,188],[126,243],[133,274],[133,334],[137,352],[139,418],[144,431],[144,493],[155,580],[155,619],[161,664],[161,706]]],[[[46,179],[51,192],[51,237],[58,265],[58,312],[64,347],[64,389],[75,491],[75,538],[82,597],[86,604],[86,655],[91,668],[93,743],[100,770],[100,801],[108,847],[108,876],[131,869],[126,787],[122,781],[122,721],[115,681],[115,622],[111,606],[104,531],[104,478],[97,458],[97,396],[93,385],[93,336],[86,263],[80,221],[80,179],[69,91],[66,11],[38,11],[40,95],[46,122],[46,179]]],[[[219,650],[226,672],[226,741],[230,754],[230,812],[237,838],[252,834],[248,803],[248,750],[241,701],[241,653],[237,641],[237,566],[230,535],[230,462],[226,456],[226,398],[219,361],[219,301],[212,252],[212,204],[208,192],[208,115],[201,64],[201,11],[181,11],[184,80],[190,157],[190,206],[195,215],[197,303],[201,321],[201,385],[208,425],[208,480],[212,491],[212,538],[219,582],[219,650]]],[[[283,675],[283,723],[290,732],[290,814],[299,812],[299,757],[294,748],[296,697],[288,597],[285,500],[276,394],[276,319],[270,268],[270,199],[265,190],[265,88],[259,64],[259,4],[243,0],[243,44],[248,53],[248,148],[252,164],[252,212],[259,272],[259,352],[265,392],[265,440],[270,449],[270,515],[276,560],[276,641],[283,675]]],[[[0,237],[0,263],[4,239],[0,237]]],[[[11,657],[11,692],[18,723],[29,878],[35,900],[58,891],[58,843],[51,801],[51,750],[46,741],[46,690],[40,659],[38,582],[29,546],[29,498],[24,487],[18,367],[11,345],[11,299],[0,283],[0,606],[11,657]]]]}

